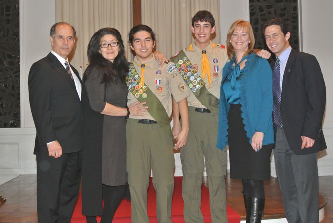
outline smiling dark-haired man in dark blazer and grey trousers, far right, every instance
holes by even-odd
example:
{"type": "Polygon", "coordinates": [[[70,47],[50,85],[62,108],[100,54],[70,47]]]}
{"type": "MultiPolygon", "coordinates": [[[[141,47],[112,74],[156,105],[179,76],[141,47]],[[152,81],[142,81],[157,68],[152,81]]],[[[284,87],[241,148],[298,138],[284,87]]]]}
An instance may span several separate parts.
{"type": "Polygon", "coordinates": [[[313,55],[290,47],[281,19],[264,26],[273,66],[274,158],[288,223],[318,223],[317,152],[326,149],[322,131],[326,90],[313,55]]]}

